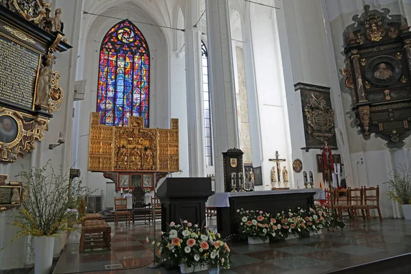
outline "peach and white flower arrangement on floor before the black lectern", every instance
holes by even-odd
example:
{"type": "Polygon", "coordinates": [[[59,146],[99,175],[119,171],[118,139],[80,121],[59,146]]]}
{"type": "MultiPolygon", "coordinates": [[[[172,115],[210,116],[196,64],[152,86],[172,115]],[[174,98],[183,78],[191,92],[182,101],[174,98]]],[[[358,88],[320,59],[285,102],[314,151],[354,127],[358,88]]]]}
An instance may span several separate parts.
{"type": "Polygon", "coordinates": [[[151,244],[159,249],[163,262],[170,266],[187,264],[188,267],[212,267],[218,264],[229,269],[232,264],[229,247],[221,240],[219,233],[188,221],[182,221],[179,225],[171,222],[166,232],[162,232],[160,240],[153,240],[151,244]]]}

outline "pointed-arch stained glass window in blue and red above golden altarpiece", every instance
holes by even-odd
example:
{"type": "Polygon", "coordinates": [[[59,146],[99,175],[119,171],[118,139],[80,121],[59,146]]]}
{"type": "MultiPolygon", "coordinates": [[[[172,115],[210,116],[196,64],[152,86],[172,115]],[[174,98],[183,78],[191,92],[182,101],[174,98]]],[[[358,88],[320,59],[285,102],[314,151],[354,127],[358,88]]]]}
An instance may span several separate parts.
{"type": "Polygon", "coordinates": [[[130,21],[114,25],[100,48],[97,112],[105,125],[127,125],[142,116],[149,126],[149,46],[130,21]]]}

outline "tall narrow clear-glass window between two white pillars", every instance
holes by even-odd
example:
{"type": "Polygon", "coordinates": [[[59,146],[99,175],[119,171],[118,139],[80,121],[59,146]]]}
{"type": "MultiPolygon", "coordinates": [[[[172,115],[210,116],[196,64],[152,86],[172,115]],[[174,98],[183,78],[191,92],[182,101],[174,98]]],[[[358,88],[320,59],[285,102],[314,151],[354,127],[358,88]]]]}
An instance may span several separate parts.
{"type": "Polygon", "coordinates": [[[210,90],[208,86],[208,53],[206,45],[201,41],[201,63],[203,70],[203,111],[204,135],[206,140],[206,163],[212,166],[212,136],[211,136],[211,108],[210,90]]]}

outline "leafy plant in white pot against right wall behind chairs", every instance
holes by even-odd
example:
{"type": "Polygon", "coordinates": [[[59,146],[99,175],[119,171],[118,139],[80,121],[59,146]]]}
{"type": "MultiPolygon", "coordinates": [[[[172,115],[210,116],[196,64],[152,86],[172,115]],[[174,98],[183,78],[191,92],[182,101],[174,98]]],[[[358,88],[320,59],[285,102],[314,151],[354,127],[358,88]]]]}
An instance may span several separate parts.
{"type": "Polygon", "coordinates": [[[384,184],[388,185],[388,196],[401,204],[404,219],[411,220],[411,172],[410,166],[399,164],[391,171],[391,178],[384,184]]]}

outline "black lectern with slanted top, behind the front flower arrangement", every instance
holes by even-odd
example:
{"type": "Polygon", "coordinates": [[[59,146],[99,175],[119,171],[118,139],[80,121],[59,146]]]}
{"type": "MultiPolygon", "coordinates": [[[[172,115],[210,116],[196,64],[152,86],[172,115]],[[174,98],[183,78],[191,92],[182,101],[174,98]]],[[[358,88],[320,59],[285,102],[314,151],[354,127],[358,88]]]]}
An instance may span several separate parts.
{"type": "Polygon", "coordinates": [[[166,178],[158,187],[157,197],[161,201],[161,230],[180,220],[206,225],[206,201],[214,193],[211,178],[166,178]]]}

